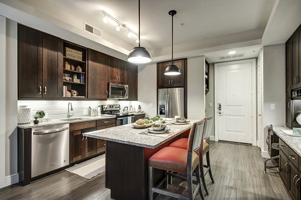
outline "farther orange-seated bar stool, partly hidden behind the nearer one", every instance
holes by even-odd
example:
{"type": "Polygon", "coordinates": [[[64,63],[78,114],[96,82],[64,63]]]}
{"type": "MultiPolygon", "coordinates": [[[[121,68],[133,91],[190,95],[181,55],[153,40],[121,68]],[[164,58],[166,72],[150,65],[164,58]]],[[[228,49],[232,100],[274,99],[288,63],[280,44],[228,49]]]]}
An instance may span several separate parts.
{"type": "MultiPolygon", "coordinates": [[[[201,173],[201,179],[203,182],[204,189],[206,191],[206,194],[209,195],[206,182],[205,182],[205,175],[209,172],[210,178],[212,183],[214,183],[212,171],[211,171],[211,165],[210,165],[210,157],[209,157],[209,135],[212,129],[213,125],[213,116],[208,116],[205,118],[205,131],[201,138],[201,146],[200,146],[200,152],[199,154],[199,162],[200,162],[200,173],[201,173]],[[204,141],[204,139],[206,141],[204,141]],[[207,164],[204,164],[203,162],[203,155],[206,154],[206,161],[207,164]],[[206,171],[204,170],[204,167],[207,168],[206,171]]],[[[184,148],[187,149],[188,138],[181,138],[173,143],[171,143],[169,146],[176,147],[176,148],[184,148]]]]}

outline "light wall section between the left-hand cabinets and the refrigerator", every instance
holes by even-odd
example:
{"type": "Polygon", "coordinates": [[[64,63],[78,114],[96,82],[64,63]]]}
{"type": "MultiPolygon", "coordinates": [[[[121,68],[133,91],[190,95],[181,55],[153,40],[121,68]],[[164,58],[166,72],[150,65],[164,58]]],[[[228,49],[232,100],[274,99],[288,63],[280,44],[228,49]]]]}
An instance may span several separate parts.
{"type": "Polygon", "coordinates": [[[146,116],[157,114],[157,63],[139,66],[138,101],[146,116]],[[153,103],[153,107],[149,103],[153,103]]]}

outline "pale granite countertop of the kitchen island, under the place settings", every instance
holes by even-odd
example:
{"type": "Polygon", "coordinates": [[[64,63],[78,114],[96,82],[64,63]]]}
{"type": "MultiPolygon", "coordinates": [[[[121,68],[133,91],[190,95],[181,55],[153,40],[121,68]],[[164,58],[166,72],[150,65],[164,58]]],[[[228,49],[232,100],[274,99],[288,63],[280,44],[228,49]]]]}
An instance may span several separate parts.
{"type": "Polygon", "coordinates": [[[83,133],[83,135],[87,137],[115,141],[146,148],[156,148],[162,143],[188,130],[192,127],[193,122],[197,121],[190,120],[191,122],[189,124],[176,125],[172,123],[173,120],[173,118],[167,118],[166,124],[167,127],[171,130],[169,131],[169,133],[164,134],[147,133],[147,128],[151,127],[136,129],[133,128],[131,124],[126,124],[112,128],[86,132],[83,133]]]}

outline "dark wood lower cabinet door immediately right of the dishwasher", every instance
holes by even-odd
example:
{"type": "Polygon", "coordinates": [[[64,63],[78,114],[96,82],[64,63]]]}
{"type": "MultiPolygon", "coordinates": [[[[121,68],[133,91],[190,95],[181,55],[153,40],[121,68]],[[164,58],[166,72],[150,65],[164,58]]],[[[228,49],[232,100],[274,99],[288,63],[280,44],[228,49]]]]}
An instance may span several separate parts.
{"type": "Polygon", "coordinates": [[[83,159],[83,135],[81,130],[75,130],[70,132],[70,163],[83,159]]]}

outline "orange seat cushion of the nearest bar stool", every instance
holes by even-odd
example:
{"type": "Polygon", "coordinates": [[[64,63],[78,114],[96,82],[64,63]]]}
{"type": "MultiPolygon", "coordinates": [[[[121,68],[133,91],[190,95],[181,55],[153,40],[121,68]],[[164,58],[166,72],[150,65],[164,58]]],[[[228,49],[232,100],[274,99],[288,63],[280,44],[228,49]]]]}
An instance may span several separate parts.
{"type": "MultiPolygon", "coordinates": [[[[188,150],[175,147],[164,147],[148,159],[148,165],[166,170],[186,172],[188,150]]],[[[192,169],[199,163],[197,153],[192,154],[192,169]]]]}

